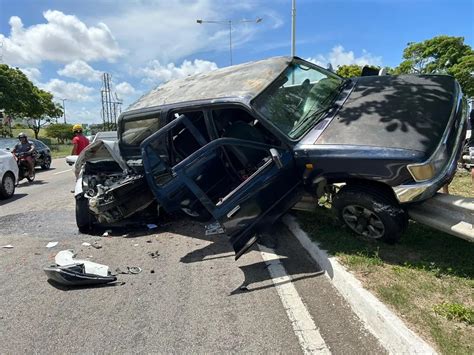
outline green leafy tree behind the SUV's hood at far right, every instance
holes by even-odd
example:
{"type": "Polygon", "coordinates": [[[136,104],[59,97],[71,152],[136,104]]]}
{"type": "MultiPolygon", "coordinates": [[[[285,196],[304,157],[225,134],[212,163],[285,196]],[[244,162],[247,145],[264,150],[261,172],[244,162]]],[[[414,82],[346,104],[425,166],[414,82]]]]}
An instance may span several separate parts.
{"type": "Polygon", "coordinates": [[[463,37],[437,36],[419,43],[408,43],[404,61],[397,74],[450,74],[461,84],[463,92],[474,96],[474,51],[463,37]]]}

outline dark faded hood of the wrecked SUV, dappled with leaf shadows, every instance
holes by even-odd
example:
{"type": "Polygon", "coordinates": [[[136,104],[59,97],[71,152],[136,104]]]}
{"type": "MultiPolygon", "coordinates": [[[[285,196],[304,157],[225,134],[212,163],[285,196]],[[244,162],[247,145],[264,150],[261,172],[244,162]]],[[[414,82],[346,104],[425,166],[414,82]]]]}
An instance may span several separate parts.
{"type": "Polygon", "coordinates": [[[430,155],[455,104],[447,75],[368,76],[355,87],[315,144],[417,150],[430,155]]]}

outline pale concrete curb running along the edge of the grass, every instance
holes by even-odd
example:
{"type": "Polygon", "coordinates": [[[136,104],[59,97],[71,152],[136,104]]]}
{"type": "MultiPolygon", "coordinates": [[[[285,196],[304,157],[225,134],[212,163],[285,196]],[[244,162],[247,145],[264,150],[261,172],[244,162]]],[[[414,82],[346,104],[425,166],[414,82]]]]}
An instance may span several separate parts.
{"type": "Polygon", "coordinates": [[[301,245],[326,271],[334,287],[346,299],[354,313],[391,354],[436,354],[436,351],[412,332],[391,310],[362,284],[336,258],[312,242],[293,216],[285,215],[283,222],[301,245]]]}

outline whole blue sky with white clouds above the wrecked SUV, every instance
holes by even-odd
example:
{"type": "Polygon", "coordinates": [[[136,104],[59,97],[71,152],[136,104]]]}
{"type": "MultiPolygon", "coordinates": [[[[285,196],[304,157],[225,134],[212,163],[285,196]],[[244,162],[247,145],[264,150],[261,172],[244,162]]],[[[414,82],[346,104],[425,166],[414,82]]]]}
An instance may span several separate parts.
{"type": "MultiPolygon", "coordinates": [[[[291,0],[0,0],[0,62],[65,99],[68,123],[100,123],[102,73],[126,109],[230,65],[229,20],[233,64],[291,54],[291,0]]],[[[296,0],[296,55],[324,67],[394,67],[438,35],[474,47],[474,0],[296,0]]]]}

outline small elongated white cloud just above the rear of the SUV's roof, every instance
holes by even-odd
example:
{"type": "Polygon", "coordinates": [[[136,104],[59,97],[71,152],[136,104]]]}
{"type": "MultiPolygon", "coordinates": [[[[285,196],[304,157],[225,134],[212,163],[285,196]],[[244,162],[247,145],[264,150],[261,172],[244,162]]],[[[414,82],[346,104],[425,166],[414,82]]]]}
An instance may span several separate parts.
{"type": "Polygon", "coordinates": [[[138,74],[143,76],[144,82],[158,84],[162,81],[184,78],[215,69],[217,69],[217,64],[207,60],[195,59],[192,62],[185,60],[181,66],[176,66],[174,63],[163,65],[159,60],[153,60],[147,67],[139,70],[138,74]]]}

